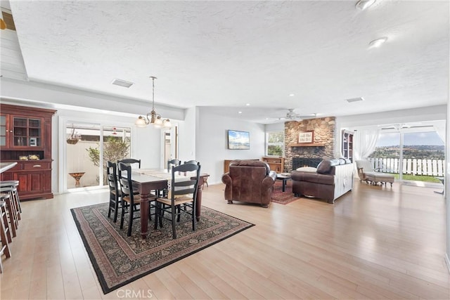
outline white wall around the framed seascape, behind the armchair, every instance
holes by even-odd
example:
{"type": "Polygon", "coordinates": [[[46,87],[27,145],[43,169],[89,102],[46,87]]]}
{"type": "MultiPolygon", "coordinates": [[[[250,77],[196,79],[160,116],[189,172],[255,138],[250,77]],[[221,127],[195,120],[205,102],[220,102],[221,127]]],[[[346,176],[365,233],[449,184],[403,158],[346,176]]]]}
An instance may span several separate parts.
{"type": "Polygon", "coordinates": [[[195,128],[195,149],[202,164],[202,172],[210,174],[208,183],[221,183],[224,159],[261,159],[264,156],[264,125],[245,122],[237,118],[212,114],[205,107],[198,107],[195,128]],[[250,132],[250,150],[229,150],[227,130],[250,132]]]}

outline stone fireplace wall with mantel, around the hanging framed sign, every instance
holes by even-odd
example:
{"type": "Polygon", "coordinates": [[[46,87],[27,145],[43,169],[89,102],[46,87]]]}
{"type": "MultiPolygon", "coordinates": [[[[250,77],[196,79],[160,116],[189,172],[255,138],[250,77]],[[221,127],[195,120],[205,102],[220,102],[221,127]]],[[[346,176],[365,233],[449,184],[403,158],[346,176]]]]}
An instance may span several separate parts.
{"type": "Polygon", "coordinates": [[[317,167],[322,159],[333,158],[335,117],[285,122],[284,128],[285,171],[293,171],[306,165],[317,167]],[[314,140],[312,143],[299,143],[299,133],[307,131],[314,131],[314,140]]]}

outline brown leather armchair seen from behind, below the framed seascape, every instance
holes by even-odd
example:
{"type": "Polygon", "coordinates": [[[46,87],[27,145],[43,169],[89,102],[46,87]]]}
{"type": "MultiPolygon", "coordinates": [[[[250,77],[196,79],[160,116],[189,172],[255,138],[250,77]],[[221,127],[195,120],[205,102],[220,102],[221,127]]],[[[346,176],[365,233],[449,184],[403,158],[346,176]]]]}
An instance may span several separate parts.
{"type": "Polygon", "coordinates": [[[233,160],[228,173],[222,176],[226,184],[225,200],[258,203],[269,207],[276,172],[269,164],[255,160],[233,160]]]}

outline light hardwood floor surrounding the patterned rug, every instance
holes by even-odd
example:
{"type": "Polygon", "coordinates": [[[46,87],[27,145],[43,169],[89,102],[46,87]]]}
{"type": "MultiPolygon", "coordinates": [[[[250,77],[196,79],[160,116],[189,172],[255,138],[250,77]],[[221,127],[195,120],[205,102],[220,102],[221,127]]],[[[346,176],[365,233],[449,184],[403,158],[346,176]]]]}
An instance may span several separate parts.
{"type": "MultiPolygon", "coordinates": [[[[335,204],[203,205],[256,226],[103,294],[69,209],[108,190],[22,202],[1,299],[449,299],[445,204],[435,189],[355,181],[335,204]]],[[[439,189],[438,189],[439,190],[439,189]]]]}

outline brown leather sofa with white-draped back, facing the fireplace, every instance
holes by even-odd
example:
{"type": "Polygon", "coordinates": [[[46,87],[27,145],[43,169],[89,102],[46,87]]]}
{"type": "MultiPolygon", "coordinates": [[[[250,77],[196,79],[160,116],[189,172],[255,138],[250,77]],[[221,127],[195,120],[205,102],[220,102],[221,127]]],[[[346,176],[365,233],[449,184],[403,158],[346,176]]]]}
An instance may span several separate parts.
{"type": "Polygon", "coordinates": [[[334,203],[353,188],[354,166],[349,159],[324,159],[316,171],[292,171],[293,193],[334,203]]]}

